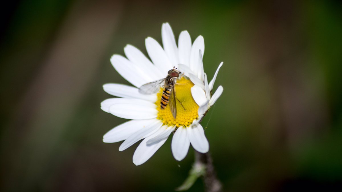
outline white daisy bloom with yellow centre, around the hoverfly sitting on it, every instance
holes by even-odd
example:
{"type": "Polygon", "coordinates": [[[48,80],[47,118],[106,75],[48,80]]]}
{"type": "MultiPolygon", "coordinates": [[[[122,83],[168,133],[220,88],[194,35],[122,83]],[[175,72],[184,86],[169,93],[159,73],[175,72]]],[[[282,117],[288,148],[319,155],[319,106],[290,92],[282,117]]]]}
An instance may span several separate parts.
{"type": "Polygon", "coordinates": [[[209,143],[199,122],[223,91],[223,87],[219,86],[211,95],[222,63],[208,83],[207,75],[203,71],[202,36],[197,37],[191,44],[189,33],[182,31],[177,46],[168,23],[162,25],[161,35],[163,47],[151,37],[145,40],[146,50],[152,62],[132,45],[124,48],[127,58],[121,55],[113,55],[110,58],[116,71],[134,87],[117,83],[103,85],[105,92],[119,98],[104,100],[101,109],[130,120],[107,132],[103,136],[103,142],[123,141],[119,147],[119,151],[123,151],[143,139],[133,155],[135,165],[145,163],[165,143],[172,132],[174,135],[171,150],[177,161],[184,159],[190,143],[196,151],[208,152],[209,143]],[[139,87],[166,78],[168,71],[174,66],[184,73],[174,85],[177,102],[182,104],[176,105],[176,118],[171,113],[170,105],[161,109],[162,86],[156,94],[139,93],[139,87]]]}

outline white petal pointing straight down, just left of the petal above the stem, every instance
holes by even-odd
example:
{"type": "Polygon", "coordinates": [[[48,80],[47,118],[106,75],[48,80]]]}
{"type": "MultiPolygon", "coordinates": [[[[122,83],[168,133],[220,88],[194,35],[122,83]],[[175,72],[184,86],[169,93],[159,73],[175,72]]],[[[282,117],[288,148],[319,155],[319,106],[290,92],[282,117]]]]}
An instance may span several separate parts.
{"type": "Polygon", "coordinates": [[[181,161],[182,159],[184,159],[184,157],[188,153],[189,146],[190,140],[188,138],[186,128],[183,128],[183,126],[177,128],[171,141],[171,150],[174,159],[176,159],[177,161],[181,161]]]}

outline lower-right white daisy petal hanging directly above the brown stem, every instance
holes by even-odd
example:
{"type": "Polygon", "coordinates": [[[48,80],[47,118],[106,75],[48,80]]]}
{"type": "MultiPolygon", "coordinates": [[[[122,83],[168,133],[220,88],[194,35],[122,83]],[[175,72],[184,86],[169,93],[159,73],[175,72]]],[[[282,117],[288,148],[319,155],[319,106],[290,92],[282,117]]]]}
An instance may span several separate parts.
{"type": "Polygon", "coordinates": [[[209,151],[209,142],[204,135],[204,130],[201,124],[193,124],[187,128],[189,140],[194,149],[200,153],[209,151]]]}

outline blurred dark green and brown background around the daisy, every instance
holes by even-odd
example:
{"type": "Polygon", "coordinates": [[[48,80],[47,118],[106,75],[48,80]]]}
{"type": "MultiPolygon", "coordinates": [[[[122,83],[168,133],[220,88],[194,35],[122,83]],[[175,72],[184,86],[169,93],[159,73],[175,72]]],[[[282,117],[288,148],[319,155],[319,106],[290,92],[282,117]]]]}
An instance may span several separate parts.
{"type": "MultiPolygon", "coordinates": [[[[202,122],[225,191],[342,188],[342,4],[339,1],[31,0],[3,6],[0,191],[174,191],[194,161],[171,137],[141,166],[137,146],[102,136],[126,121],[100,109],[128,84],[112,54],[144,39],[205,39],[224,92],[202,122]]],[[[204,191],[201,180],[189,191],[204,191]]]]}

